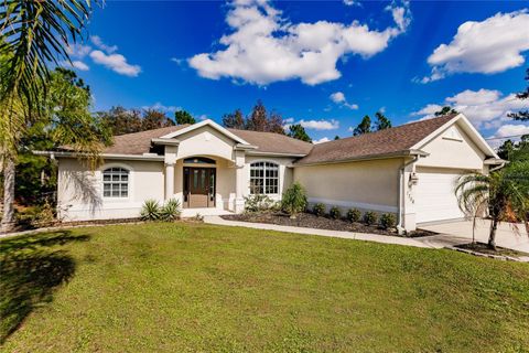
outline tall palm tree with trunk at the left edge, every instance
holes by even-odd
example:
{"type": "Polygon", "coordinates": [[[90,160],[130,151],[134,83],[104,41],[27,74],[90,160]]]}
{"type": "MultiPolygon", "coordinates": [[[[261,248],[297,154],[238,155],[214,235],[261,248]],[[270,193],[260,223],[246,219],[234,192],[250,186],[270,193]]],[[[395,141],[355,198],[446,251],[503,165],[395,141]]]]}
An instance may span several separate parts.
{"type": "Polygon", "coordinates": [[[69,61],[90,0],[20,1],[0,6],[0,152],[4,176],[2,231],[13,222],[14,164],[24,129],[43,116],[50,66],[69,61]]]}

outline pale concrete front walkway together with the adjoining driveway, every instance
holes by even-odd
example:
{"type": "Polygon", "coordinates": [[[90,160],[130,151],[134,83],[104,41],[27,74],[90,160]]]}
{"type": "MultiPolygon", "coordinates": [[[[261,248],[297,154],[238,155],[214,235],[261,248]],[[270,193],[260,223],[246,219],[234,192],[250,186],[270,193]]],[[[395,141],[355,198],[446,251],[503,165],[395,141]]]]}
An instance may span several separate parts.
{"type": "MultiPolygon", "coordinates": [[[[237,222],[223,220],[219,216],[206,216],[205,223],[227,225],[227,226],[240,226],[256,229],[269,229],[298,234],[310,234],[331,236],[346,239],[367,240],[385,244],[407,245],[424,248],[444,248],[451,247],[457,244],[465,244],[472,240],[472,222],[452,222],[439,225],[424,226],[423,229],[440,233],[432,236],[423,236],[418,238],[406,238],[398,236],[367,234],[367,233],[353,233],[341,231],[327,231],[317,228],[294,227],[285,225],[266,224],[266,223],[250,223],[250,222],[237,222]]],[[[511,248],[519,252],[529,253],[529,237],[525,232],[522,225],[518,225],[520,234],[516,234],[507,224],[500,224],[498,227],[497,245],[506,248],[511,248]]],[[[488,238],[488,221],[479,221],[476,227],[476,239],[479,242],[487,242],[488,238]]]]}

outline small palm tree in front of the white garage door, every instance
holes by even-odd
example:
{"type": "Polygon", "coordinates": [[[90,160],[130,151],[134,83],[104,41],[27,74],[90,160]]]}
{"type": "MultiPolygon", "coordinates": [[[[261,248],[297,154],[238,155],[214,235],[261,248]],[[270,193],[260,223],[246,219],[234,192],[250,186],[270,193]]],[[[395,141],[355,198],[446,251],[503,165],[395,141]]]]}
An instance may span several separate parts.
{"type": "Polygon", "coordinates": [[[488,246],[496,249],[500,222],[523,222],[529,231],[529,162],[516,162],[489,175],[473,173],[458,179],[460,207],[467,215],[490,217],[488,246]]]}

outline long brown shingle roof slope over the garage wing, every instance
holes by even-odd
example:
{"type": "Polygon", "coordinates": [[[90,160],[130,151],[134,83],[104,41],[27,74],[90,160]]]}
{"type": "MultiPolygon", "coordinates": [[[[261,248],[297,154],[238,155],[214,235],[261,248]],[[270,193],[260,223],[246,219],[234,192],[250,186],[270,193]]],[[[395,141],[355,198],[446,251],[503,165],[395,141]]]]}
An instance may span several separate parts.
{"type": "Polygon", "coordinates": [[[404,152],[456,115],[410,122],[391,129],[328,141],[314,146],[296,164],[346,161],[404,152]]]}

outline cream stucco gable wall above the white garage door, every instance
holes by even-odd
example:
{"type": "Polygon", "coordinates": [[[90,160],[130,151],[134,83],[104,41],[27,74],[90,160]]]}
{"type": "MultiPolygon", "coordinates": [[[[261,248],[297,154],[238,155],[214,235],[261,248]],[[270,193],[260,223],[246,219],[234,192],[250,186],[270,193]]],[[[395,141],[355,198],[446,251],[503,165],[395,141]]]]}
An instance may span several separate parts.
{"type": "Polygon", "coordinates": [[[419,159],[418,167],[438,167],[482,171],[485,154],[472,142],[463,129],[454,124],[433,140],[420,147],[430,156],[419,159]],[[461,140],[446,137],[449,129],[455,129],[461,140]]]}

